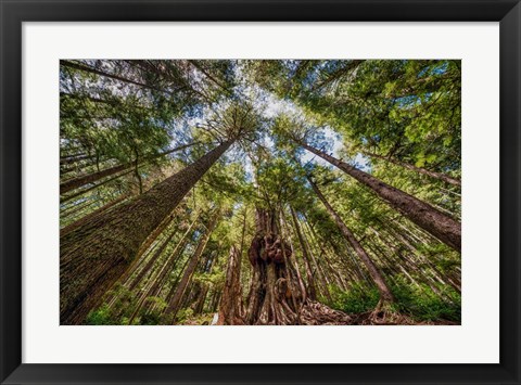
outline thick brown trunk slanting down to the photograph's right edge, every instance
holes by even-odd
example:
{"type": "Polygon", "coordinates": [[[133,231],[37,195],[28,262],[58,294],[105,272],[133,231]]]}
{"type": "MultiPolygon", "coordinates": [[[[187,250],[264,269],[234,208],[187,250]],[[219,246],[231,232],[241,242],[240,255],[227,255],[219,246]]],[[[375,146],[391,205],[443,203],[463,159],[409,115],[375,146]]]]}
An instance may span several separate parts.
{"type": "Polygon", "coordinates": [[[302,141],[298,142],[298,144],[336,166],[364,185],[370,188],[393,208],[397,209],[414,223],[431,233],[446,245],[453,247],[457,252],[461,251],[461,223],[458,221],[435,209],[428,203],[422,202],[402,190],[393,188],[345,162],[339,161],[302,141]]]}

